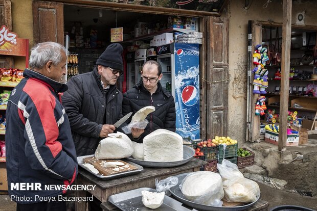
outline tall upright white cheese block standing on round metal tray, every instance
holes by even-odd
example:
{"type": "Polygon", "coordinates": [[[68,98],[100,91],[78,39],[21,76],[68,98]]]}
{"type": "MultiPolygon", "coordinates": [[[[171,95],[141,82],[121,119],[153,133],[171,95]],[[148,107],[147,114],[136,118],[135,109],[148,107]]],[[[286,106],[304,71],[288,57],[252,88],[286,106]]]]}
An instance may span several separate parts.
{"type": "Polygon", "coordinates": [[[157,129],[143,139],[144,161],[174,162],[184,160],[183,138],[167,129],[157,129]]]}

